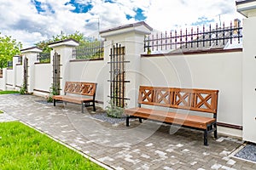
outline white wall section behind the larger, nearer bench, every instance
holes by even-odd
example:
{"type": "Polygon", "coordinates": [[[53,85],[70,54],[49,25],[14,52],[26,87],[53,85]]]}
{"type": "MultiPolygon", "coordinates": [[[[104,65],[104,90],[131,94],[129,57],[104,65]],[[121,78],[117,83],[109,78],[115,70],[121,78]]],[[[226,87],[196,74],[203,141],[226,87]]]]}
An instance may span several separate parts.
{"type": "Polygon", "coordinates": [[[242,126],[241,52],[142,57],[141,84],[218,89],[218,122],[242,126]]]}

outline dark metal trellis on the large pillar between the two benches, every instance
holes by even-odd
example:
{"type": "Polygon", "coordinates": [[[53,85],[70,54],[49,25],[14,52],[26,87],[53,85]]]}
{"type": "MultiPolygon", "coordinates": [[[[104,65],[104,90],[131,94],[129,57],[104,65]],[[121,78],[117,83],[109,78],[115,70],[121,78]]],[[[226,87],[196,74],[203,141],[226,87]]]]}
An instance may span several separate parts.
{"type": "Polygon", "coordinates": [[[124,107],[125,106],[125,47],[116,44],[110,50],[110,99],[113,105],[124,107]]]}

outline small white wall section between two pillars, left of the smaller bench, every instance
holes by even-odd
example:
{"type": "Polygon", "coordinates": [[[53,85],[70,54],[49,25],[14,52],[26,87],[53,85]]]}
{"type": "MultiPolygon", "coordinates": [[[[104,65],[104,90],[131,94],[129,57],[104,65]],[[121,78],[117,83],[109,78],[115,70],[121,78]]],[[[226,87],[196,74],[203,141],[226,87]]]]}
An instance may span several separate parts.
{"type": "Polygon", "coordinates": [[[34,89],[49,92],[52,83],[52,65],[36,64],[34,67],[34,89]]]}

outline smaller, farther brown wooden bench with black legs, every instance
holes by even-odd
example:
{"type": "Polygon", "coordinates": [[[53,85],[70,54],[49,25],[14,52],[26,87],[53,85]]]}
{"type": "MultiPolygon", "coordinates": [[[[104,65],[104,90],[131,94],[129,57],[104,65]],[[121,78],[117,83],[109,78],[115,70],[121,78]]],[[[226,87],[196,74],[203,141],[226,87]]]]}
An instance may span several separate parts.
{"type": "Polygon", "coordinates": [[[64,101],[79,104],[82,106],[82,113],[84,113],[84,106],[93,106],[93,111],[96,111],[95,96],[96,83],[93,82],[66,82],[64,88],[65,95],[54,95],[54,106],[56,101],[64,101]],[[67,95],[68,94],[68,95],[67,95]],[[90,98],[85,98],[89,96],[90,98]],[[90,105],[91,103],[91,105],[90,105]]]}

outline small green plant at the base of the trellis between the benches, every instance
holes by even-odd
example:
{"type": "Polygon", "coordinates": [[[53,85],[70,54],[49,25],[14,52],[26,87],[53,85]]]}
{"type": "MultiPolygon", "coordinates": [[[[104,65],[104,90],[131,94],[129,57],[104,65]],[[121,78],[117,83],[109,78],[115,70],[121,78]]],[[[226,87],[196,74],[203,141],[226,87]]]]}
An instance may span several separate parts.
{"type": "Polygon", "coordinates": [[[108,106],[106,107],[107,114],[110,117],[121,118],[124,116],[125,109],[123,107],[115,105],[114,100],[115,99],[110,99],[110,101],[108,102],[108,106]]]}

